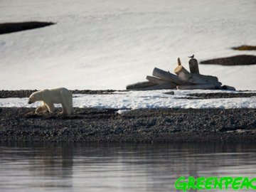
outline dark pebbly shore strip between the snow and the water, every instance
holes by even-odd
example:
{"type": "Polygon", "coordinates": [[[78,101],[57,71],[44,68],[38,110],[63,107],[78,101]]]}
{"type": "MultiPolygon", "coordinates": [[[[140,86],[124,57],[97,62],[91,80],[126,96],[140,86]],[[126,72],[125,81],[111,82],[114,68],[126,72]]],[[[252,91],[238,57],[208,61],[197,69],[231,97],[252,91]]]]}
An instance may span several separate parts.
{"type": "Polygon", "coordinates": [[[256,142],[255,109],[33,110],[0,108],[1,142],[256,142]]]}

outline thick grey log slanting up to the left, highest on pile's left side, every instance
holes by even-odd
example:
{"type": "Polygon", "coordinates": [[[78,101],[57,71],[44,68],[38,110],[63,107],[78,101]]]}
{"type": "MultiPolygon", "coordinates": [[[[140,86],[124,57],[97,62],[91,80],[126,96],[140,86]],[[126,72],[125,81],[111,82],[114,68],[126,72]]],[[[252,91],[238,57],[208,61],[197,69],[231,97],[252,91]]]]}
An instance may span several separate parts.
{"type": "Polygon", "coordinates": [[[176,85],[186,85],[186,82],[183,82],[182,80],[180,80],[177,75],[166,72],[159,68],[154,68],[153,75],[162,80],[174,82],[174,84],[176,85]]]}

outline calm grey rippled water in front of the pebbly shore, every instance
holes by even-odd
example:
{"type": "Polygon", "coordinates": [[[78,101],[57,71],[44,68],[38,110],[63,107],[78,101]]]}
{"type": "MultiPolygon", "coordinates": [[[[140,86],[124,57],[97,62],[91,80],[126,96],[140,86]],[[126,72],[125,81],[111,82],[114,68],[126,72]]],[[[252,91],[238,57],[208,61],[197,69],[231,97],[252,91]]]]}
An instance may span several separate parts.
{"type": "Polygon", "coordinates": [[[249,144],[0,144],[0,191],[175,191],[179,176],[256,176],[249,144]]]}

